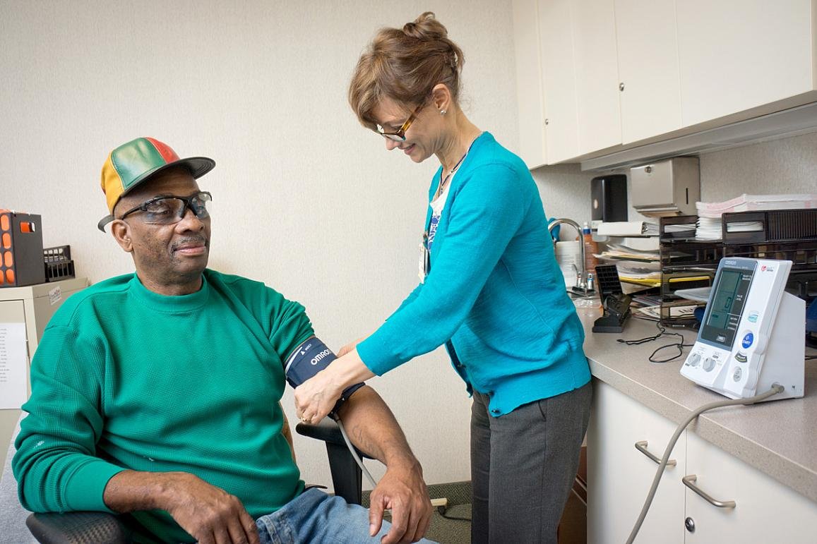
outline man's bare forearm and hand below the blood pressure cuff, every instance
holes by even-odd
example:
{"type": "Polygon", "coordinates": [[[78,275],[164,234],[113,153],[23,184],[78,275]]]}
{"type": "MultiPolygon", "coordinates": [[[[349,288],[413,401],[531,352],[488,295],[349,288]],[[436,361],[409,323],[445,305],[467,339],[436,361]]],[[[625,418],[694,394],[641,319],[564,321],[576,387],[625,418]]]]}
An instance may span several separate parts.
{"type": "Polygon", "coordinates": [[[369,533],[377,534],[383,511],[389,508],[391,529],[382,542],[417,542],[431,522],[431,500],[422,479],[422,466],[408,447],[394,414],[368,386],[356,390],[338,412],[351,442],[386,465],[386,474],[371,494],[369,533]]]}

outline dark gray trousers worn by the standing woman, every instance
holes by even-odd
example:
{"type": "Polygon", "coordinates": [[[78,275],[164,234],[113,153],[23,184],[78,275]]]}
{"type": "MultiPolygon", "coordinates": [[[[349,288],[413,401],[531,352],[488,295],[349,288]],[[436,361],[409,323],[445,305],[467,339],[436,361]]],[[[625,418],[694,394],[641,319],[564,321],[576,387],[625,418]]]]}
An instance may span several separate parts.
{"type": "Polygon", "coordinates": [[[471,405],[471,542],[556,544],[587,420],[587,385],[491,417],[489,397],[471,405]]]}

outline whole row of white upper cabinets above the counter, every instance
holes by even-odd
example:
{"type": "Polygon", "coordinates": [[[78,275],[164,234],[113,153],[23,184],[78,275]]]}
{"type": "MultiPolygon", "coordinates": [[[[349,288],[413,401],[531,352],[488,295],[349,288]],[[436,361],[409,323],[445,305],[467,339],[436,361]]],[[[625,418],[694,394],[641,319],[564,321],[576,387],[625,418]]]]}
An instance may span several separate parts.
{"type": "Polygon", "coordinates": [[[513,11],[529,167],[642,146],[646,158],[649,145],[817,101],[817,0],[513,0],[513,11]]]}

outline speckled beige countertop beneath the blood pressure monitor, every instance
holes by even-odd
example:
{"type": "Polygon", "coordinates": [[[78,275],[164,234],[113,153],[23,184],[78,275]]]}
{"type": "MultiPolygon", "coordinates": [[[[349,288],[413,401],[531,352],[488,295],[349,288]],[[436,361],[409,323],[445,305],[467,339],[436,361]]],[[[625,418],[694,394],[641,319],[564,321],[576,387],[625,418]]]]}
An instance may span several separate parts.
{"type": "MultiPolygon", "coordinates": [[[[630,318],[624,332],[594,333],[592,324],[600,310],[579,308],[578,314],[584,323],[590,370],[600,381],[676,424],[703,404],[725,399],[681,376],[688,347],[669,363],[650,363],[648,358],[656,348],[677,337],[661,337],[639,346],[617,342],[619,338],[654,336],[659,332],[654,322],[630,318]]],[[[685,329],[667,328],[667,332],[681,332],[685,344],[694,343],[697,336],[685,329]]],[[[806,349],[806,354],[814,352],[806,349]]],[[[805,392],[802,399],[717,408],[692,421],[687,430],[817,502],[817,360],[806,361],[805,392]]]]}

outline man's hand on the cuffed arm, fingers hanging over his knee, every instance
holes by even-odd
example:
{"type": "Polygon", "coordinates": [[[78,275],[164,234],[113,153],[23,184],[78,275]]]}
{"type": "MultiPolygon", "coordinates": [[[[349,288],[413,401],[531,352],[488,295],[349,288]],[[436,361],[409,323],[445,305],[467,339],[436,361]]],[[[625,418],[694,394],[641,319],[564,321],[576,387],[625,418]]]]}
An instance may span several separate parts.
{"type": "Polygon", "coordinates": [[[416,461],[405,466],[388,466],[370,497],[369,534],[380,531],[383,510],[391,509],[391,528],[383,544],[417,542],[431,523],[431,500],[428,498],[422,469],[416,461]]]}

